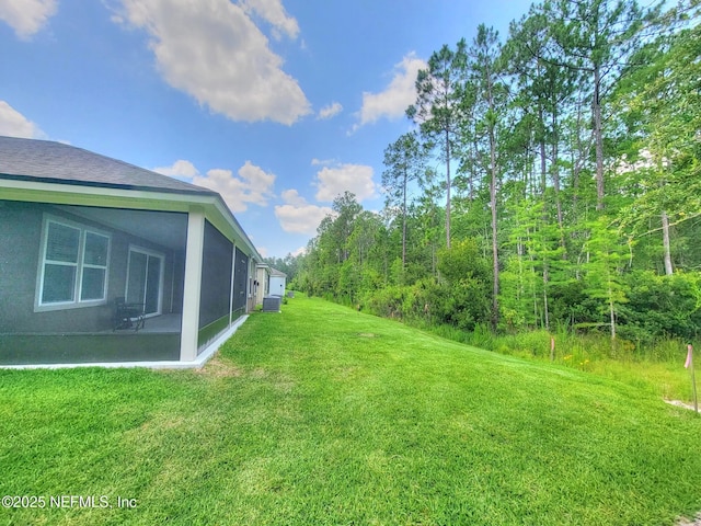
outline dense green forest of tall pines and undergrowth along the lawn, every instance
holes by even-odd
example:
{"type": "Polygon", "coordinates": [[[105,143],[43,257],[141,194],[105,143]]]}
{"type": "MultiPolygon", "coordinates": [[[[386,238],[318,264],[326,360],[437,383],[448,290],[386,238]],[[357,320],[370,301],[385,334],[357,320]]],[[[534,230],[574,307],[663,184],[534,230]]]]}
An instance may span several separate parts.
{"type": "Polygon", "coordinates": [[[294,286],[462,331],[693,339],[700,14],[545,0],[444,45],[384,148],[384,209],[340,195],[294,286]]]}

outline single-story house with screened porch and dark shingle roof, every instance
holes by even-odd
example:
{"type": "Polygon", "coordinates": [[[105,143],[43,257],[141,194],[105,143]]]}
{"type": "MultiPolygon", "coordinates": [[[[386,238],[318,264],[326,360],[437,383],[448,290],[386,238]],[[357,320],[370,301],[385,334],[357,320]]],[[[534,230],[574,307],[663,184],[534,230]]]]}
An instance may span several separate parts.
{"type": "Polygon", "coordinates": [[[0,137],[0,366],[198,365],[255,305],[262,261],[216,192],[0,137]]]}

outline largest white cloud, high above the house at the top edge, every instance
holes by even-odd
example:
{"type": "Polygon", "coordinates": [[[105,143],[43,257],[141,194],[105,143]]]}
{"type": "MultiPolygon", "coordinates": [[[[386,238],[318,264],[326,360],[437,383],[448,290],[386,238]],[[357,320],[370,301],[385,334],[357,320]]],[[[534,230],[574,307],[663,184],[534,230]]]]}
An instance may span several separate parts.
{"type": "MultiPolygon", "coordinates": [[[[122,19],[151,36],[150,48],[165,81],[212,112],[232,121],[287,125],[310,113],[299,83],[283,71],[283,59],[241,5],[230,0],[122,3],[122,19]]],[[[246,5],[280,31],[296,34],[295,19],[278,0],[251,0],[246,5]]]]}

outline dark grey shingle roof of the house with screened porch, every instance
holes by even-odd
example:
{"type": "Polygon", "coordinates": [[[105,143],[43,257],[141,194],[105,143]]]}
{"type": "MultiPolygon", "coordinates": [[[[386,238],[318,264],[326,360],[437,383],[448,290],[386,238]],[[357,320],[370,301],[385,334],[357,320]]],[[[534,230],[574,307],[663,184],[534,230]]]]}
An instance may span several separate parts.
{"type": "Polygon", "coordinates": [[[0,179],[216,194],[124,161],[48,140],[0,137],[0,179]]]}

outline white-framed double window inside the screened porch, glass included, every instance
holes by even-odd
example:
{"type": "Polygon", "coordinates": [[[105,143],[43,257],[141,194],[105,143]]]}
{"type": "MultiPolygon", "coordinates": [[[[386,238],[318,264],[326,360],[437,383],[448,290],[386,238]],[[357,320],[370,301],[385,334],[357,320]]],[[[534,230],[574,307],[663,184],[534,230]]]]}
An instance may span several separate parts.
{"type": "Polygon", "coordinates": [[[110,237],[64,219],[46,217],[38,278],[39,308],[104,302],[110,237]]]}

